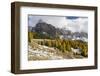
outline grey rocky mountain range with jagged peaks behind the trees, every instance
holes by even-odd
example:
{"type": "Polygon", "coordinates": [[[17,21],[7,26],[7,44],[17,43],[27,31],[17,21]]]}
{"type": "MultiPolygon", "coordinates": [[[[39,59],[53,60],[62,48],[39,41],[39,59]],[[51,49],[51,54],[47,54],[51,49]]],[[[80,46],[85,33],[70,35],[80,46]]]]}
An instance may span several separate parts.
{"type": "Polygon", "coordinates": [[[41,35],[47,35],[50,38],[60,36],[64,39],[88,38],[88,34],[85,32],[72,32],[64,28],[56,28],[54,25],[43,22],[42,20],[39,20],[35,27],[31,27],[31,31],[41,35]]]}

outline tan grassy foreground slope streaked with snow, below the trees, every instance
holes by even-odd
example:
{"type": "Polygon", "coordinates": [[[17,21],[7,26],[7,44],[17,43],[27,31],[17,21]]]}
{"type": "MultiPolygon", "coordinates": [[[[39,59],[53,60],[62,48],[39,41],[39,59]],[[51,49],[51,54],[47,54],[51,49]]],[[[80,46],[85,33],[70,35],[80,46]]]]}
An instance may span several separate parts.
{"type": "Polygon", "coordinates": [[[30,43],[28,46],[28,60],[59,60],[72,59],[73,55],[64,55],[59,49],[30,43]]]}

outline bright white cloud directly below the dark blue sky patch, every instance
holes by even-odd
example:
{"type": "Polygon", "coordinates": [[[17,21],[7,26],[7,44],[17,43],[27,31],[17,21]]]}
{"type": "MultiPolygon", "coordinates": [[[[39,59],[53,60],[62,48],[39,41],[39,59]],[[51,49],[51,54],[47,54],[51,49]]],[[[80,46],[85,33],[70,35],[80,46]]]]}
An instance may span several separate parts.
{"type": "Polygon", "coordinates": [[[88,32],[88,18],[77,18],[74,20],[67,19],[67,27],[66,29],[69,29],[73,32],[88,32]]]}

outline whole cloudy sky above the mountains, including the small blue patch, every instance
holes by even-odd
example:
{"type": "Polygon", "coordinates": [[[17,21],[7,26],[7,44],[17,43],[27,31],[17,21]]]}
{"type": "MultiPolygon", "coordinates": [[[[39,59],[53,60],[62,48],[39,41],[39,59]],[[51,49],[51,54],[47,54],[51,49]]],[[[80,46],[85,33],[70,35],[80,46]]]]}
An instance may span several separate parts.
{"type": "Polygon", "coordinates": [[[29,15],[29,26],[34,27],[39,20],[52,24],[56,28],[65,28],[72,32],[88,32],[88,18],[78,16],[36,16],[29,15]]]}

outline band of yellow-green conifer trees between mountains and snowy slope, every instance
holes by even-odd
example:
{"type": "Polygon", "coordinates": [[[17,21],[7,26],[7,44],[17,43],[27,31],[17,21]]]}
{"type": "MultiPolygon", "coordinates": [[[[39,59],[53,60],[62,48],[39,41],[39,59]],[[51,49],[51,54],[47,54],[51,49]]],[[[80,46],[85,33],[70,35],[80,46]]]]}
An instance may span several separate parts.
{"type": "MultiPolygon", "coordinates": [[[[28,33],[28,40],[29,42],[31,39],[35,38],[33,33],[28,33]]],[[[35,38],[36,39],[36,38],[35,38]]],[[[38,41],[38,44],[40,45],[45,45],[48,47],[54,47],[55,49],[59,49],[62,52],[71,52],[71,48],[74,49],[80,49],[81,50],[81,55],[84,57],[88,56],[88,43],[83,42],[81,40],[64,40],[64,39],[49,39],[49,40],[43,40],[43,41],[38,41]]]]}

